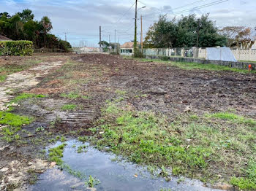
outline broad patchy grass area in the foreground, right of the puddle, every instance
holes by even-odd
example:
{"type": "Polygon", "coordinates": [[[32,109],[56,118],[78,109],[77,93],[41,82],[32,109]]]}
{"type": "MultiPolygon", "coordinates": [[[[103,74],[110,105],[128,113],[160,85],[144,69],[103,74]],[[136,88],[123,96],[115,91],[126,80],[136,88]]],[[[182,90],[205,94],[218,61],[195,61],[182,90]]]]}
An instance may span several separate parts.
{"type": "Polygon", "coordinates": [[[170,168],[173,175],[255,189],[255,120],[217,113],[168,122],[127,108],[110,103],[102,110],[95,140],[99,149],[108,147],[134,163],[161,168],[165,176],[170,168]]]}

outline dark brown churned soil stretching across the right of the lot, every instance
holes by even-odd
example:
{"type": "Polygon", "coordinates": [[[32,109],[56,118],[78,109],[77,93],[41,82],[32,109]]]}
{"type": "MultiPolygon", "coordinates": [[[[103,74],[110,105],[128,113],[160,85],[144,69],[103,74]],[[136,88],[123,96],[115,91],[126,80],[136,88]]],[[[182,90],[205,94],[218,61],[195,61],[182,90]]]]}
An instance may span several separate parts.
{"type": "Polygon", "coordinates": [[[113,55],[80,55],[72,59],[86,63],[81,65],[82,71],[87,66],[101,69],[99,81],[89,82],[86,87],[89,92],[97,91],[97,101],[105,101],[104,94],[115,96],[116,90],[126,90],[129,102],[139,110],[176,115],[190,106],[198,114],[236,109],[238,114],[256,116],[255,74],[187,71],[165,63],[141,63],[113,55]],[[135,96],[143,94],[146,96],[135,96]]]}

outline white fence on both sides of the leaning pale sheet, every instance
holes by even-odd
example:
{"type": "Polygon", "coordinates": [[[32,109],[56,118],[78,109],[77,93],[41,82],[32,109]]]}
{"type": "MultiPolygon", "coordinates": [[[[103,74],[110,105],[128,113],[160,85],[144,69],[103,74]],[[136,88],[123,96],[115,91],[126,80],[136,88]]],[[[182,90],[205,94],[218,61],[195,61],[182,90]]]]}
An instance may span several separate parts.
{"type": "MultiPolygon", "coordinates": [[[[231,50],[238,61],[256,61],[256,50],[231,50]]],[[[206,59],[206,48],[148,48],[143,49],[143,55],[162,55],[173,57],[206,59]]]]}

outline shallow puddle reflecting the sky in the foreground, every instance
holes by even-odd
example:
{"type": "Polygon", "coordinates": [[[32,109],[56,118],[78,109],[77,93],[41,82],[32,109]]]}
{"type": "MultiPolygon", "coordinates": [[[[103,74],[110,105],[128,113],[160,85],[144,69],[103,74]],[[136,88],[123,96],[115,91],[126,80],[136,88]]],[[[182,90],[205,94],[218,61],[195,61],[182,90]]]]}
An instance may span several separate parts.
{"type": "MultiPolygon", "coordinates": [[[[53,147],[58,146],[57,143],[53,147]]],[[[82,145],[79,141],[67,141],[64,149],[64,163],[72,170],[80,171],[86,176],[93,176],[99,179],[100,184],[96,185],[97,190],[131,191],[131,190],[214,190],[203,187],[203,183],[197,180],[184,179],[178,184],[178,178],[172,177],[170,182],[163,178],[154,178],[146,171],[146,168],[128,163],[124,160],[113,161],[116,155],[100,152],[93,147],[87,147],[87,152],[78,153],[78,147],[82,145]],[[76,145],[76,148],[72,147],[76,145]],[[112,159],[112,160],[111,160],[112,159]],[[138,174],[138,177],[135,177],[138,174]]],[[[29,190],[86,190],[84,181],[60,171],[57,168],[50,169],[39,176],[37,184],[29,187],[29,190]]]]}

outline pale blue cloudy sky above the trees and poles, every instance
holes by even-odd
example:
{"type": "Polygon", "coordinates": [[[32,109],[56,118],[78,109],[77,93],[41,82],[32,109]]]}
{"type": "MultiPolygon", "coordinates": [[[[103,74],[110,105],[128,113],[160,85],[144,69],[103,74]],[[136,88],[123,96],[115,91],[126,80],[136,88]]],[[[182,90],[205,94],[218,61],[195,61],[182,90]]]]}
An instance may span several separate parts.
{"type": "MultiPolygon", "coordinates": [[[[129,42],[134,36],[135,0],[0,0],[0,12],[10,15],[29,8],[34,12],[35,19],[42,16],[50,17],[53,23],[51,33],[64,39],[72,45],[82,42],[87,46],[96,46],[99,42],[99,26],[102,26],[102,39],[114,42],[129,42]],[[131,7],[131,9],[129,9],[131,7]]],[[[143,35],[160,14],[166,14],[171,19],[195,13],[202,15],[210,13],[211,20],[221,26],[256,26],[255,0],[141,0],[138,17],[143,15],[143,35]],[[225,1],[221,4],[220,1],[225,1]],[[211,6],[210,6],[211,5],[211,6]]],[[[140,33],[140,20],[138,20],[140,33]]],[[[82,43],[82,44],[83,44],[82,43]]]]}

